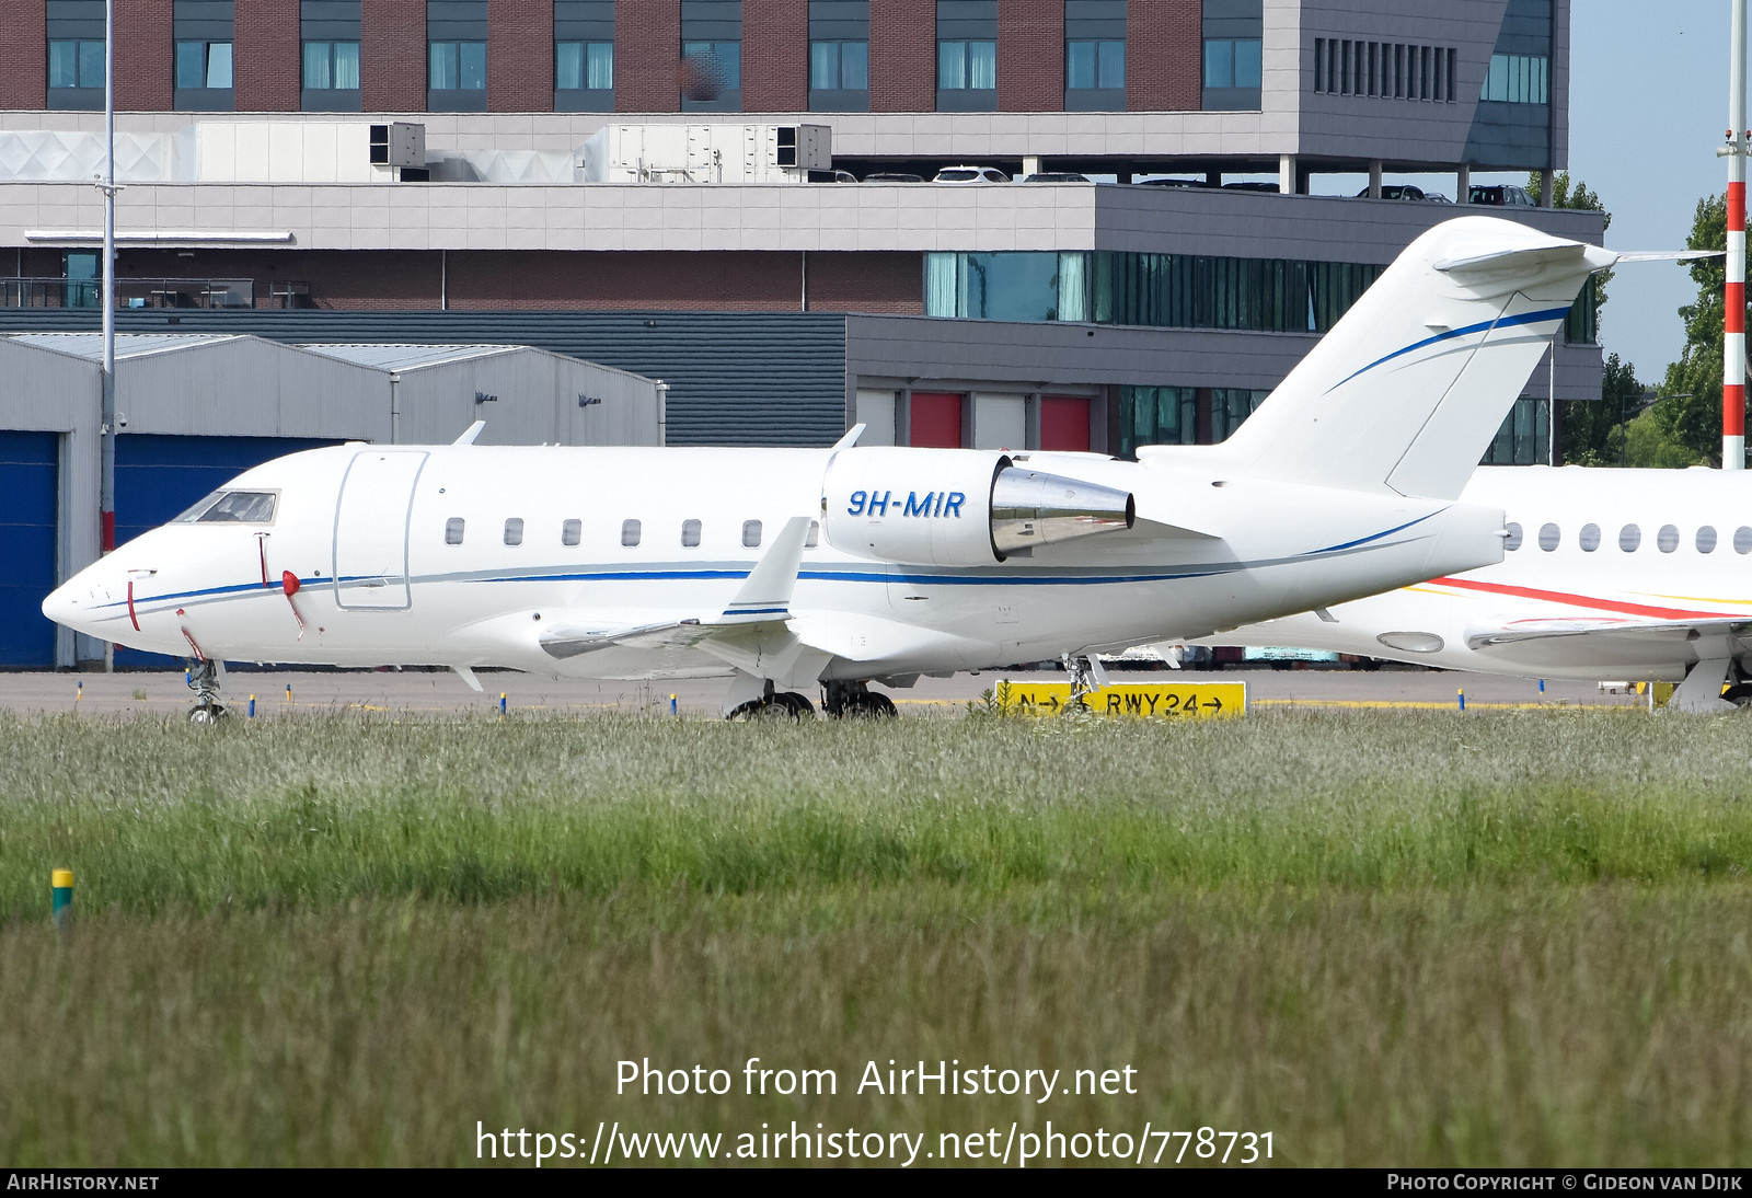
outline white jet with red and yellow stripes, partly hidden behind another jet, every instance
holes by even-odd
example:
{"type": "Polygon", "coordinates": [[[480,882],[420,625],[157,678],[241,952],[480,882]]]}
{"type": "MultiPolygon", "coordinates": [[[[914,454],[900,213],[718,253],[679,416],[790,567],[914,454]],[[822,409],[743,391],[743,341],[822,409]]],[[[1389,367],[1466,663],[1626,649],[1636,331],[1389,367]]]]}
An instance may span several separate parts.
{"type": "Polygon", "coordinates": [[[1501,564],[1214,639],[1752,702],[1752,475],[1487,466],[1463,501],[1507,511],[1501,564]]]}

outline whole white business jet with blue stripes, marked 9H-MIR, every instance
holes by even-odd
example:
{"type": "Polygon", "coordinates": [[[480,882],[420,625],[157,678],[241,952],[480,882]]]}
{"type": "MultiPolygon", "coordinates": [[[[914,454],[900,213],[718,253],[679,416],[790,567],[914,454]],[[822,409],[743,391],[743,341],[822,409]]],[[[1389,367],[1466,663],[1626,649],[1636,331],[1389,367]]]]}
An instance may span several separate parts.
{"type": "Polygon", "coordinates": [[[1456,503],[1615,254],[1491,217],[1419,236],[1223,445],[1097,454],[342,445],[245,471],[44,601],[221,662],[729,674],[724,709],[887,715],[871,681],[1184,639],[1503,557],[1456,503]]]}

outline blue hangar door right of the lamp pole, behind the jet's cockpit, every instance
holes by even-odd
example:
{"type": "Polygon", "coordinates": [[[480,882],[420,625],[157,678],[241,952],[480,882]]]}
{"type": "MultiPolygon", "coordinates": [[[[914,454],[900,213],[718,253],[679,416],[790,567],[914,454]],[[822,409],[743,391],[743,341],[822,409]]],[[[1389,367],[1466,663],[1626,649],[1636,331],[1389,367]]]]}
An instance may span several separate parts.
{"type": "MultiPolygon", "coordinates": [[[[338,441],[123,433],[116,438],[116,543],[124,545],[173,520],[251,466],[324,445],[338,441]]],[[[163,653],[116,650],[116,666],[130,669],[170,669],[177,660],[163,653]]]]}

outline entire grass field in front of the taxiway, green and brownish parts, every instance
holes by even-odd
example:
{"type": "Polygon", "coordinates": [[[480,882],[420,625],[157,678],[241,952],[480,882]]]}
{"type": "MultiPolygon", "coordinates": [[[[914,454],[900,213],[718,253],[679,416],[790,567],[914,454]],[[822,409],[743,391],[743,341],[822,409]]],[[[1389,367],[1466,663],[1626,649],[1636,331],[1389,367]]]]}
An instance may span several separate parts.
{"type": "Polygon", "coordinates": [[[1743,1161],[1748,730],[0,716],[0,1161],[468,1163],[477,1121],[792,1119],[1743,1161]],[[750,1056],[837,1095],[746,1095],[750,1056]],[[617,1095],[625,1058],[736,1086],[617,1095]],[[1137,1093],[855,1093],[890,1058],[1130,1065],[1137,1093]]]}

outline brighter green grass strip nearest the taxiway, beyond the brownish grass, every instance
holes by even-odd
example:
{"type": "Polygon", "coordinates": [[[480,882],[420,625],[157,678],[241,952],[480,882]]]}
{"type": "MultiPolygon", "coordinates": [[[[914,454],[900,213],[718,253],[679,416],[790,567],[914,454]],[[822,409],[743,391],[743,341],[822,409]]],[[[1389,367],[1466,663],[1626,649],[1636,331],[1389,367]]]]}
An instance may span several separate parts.
{"type": "Polygon", "coordinates": [[[0,923],[685,881],[746,893],[1673,881],[1752,863],[1736,720],[727,727],[0,716],[0,923]]]}

